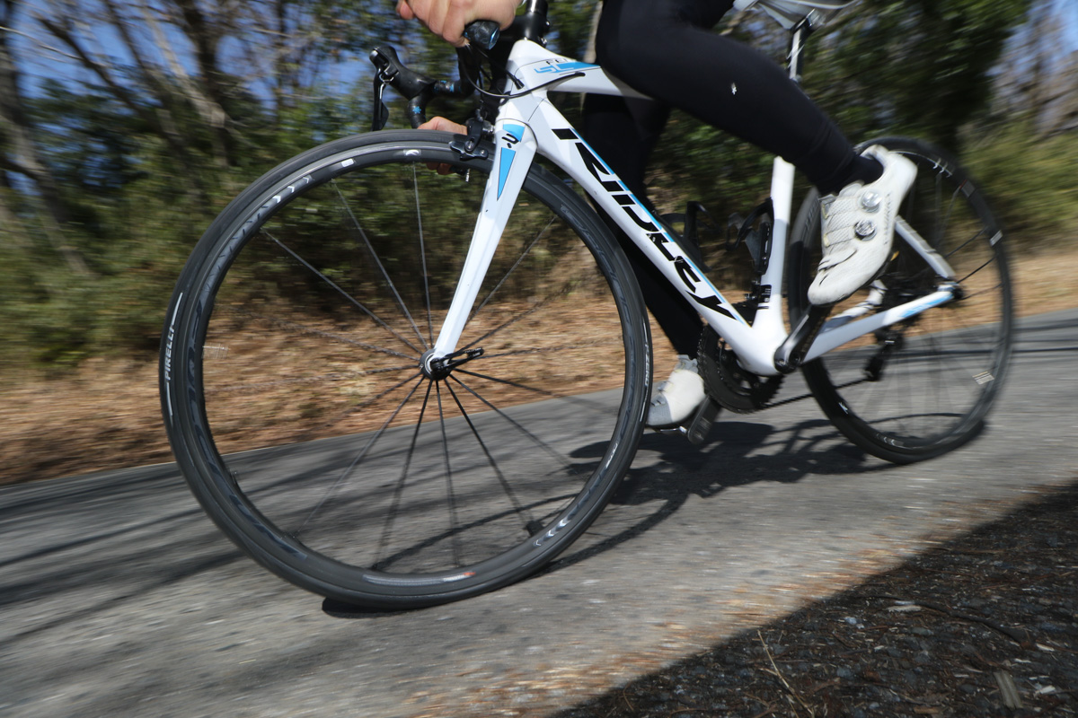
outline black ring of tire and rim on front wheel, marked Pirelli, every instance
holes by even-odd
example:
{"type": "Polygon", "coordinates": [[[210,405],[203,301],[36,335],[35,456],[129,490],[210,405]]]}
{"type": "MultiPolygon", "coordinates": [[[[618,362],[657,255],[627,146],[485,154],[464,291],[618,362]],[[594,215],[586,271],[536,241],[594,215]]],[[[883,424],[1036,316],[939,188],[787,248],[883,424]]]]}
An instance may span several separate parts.
{"type": "MultiPolygon", "coordinates": [[[[627,261],[594,211],[561,180],[533,166],[525,188],[545,198],[552,209],[559,209],[566,221],[571,220],[577,225],[608,277],[626,328],[628,375],[616,428],[616,435],[622,439],[611,442],[618,445],[617,450],[608,452],[600,469],[593,474],[569,509],[550,524],[549,540],[527,549],[511,549],[507,553],[513,554],[516,565],[502,566],[492,571],[489,576],[454,580],[446,582],[445,588],[430,585],[390,590],[378,587],[364,591],[357,588],[354,580],[358,569],[313,554],[298,541],[287,540],[247,501],[217,452],[202,404],[199,352],[208,316],[212,313],[213,296],[224,273],[239,248],[254,234],[253,229],[276,210],[271,206],[275,194],[290,182],[310,174],[306,171],[309,168],[324,168],[348,158],[358,161],[359,157],[381,156],[401,147],[444,154],[450,152],[446,145],[453,137],[431,130],[353,136],[315,147],[263,174],[225,208],[198,241],[177,283],[162,336],[160,380],[166,430],[177,462],[206,512],[237,546],[275,574],[315,593],[372,608],[418,607],[474,595],[519,580],[549,563],[602,511],[618,479],[627,470],[642,433],[650,392],[650,334],[627,261]],[[252,225],[248,220],[252,214],[258,214],[258,224],[252,225]]],[[[488,160],[476,163],[484,171],[489,171],[489,166],[488,160]]]]}

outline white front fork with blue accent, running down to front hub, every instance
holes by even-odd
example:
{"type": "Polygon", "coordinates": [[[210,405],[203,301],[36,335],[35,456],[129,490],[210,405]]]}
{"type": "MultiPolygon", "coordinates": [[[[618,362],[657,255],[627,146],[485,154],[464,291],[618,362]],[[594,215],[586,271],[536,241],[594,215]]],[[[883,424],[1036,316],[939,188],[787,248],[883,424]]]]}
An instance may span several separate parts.
{"type": "Polygon", "coordinates": [[[501,233],[509,222],[509,215],[516,205],[516,197],[535,157],[535,133],[523,122],[499,118],[495,125],[495,139],[494,169],[487,178],[468,256],[457,281],[450,311],[430,353],[431,358],[448,356],[456,351],[468,314],[479,296],[483,278],[490,268],[501,233]]]}

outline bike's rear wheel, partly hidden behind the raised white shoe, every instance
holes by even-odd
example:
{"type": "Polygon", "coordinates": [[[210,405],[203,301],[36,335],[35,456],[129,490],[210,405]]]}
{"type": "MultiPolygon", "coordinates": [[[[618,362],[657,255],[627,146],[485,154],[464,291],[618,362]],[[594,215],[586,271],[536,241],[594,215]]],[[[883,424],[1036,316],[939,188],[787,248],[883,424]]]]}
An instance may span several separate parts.
{"type": "MultiPolygon", "coordinates": [[[[917,165],[899,214],[954,268],[960,298],[851,342],[803,371],[820,408],[851,441],[908,464],[951,451],[982,428],[1010,361],[1010,271],[999,224],[954,158],[918,140],[883,138],[866,146],[871,144],[917,165]]],[[[819,238],[819,202],[812,193],[791,235],[787,288],[793,321],[807,311],[819,238]]],[[[931,293],[938,277],[896,236],[876,282],[883,310],[931,293]]],[[[832,315],[867,296],[862,290],[832,315]]]]}

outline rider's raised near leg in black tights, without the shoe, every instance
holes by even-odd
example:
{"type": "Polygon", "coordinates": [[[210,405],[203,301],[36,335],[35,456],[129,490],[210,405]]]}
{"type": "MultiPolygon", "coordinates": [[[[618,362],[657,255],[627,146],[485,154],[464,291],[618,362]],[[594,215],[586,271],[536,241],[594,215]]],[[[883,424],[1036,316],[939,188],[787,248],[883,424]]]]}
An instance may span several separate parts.
{"type": "Polygon", "coordinates": [[[606,0],[599,64],[641,93],[784,157],[824,193],[880,174],[770,57],[710,28],[733,0],[606,0]]]}

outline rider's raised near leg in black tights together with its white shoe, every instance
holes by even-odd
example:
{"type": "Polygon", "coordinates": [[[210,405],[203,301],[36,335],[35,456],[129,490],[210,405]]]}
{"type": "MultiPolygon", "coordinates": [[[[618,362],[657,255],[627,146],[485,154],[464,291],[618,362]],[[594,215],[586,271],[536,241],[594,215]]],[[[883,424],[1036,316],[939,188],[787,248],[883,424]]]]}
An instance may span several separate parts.
{"type": "Polygon", "coordinates": [[[856,212],[831,211],[825,217],[820,266],[827,286],[817,287],[812,296],[819,304],[835,301],[871,279],[886,259],[894,211],[909,187],[907,180],[912,181],[912,165],[886,152],[858,155],[778,65],[752,47],[710,32],[708,28],[732,4],[732,0],[606,0],[596,33],[599,62],[650,97],[780,155],[824,194],[843,191],[853,198],[849,201],[862,205],[866,195],[882,197],[875,206],[882,226],[870,237],[856,231],[863,219],[856,212]],[[884,172],[885,164],[895,169],[884,172]],[[887,214],[890,219],[884,220],[887,214]],[[828,237],[839,239],[829,242],[828,237]],[[856,241],[846,241],[851,237],[856,241]]]}

